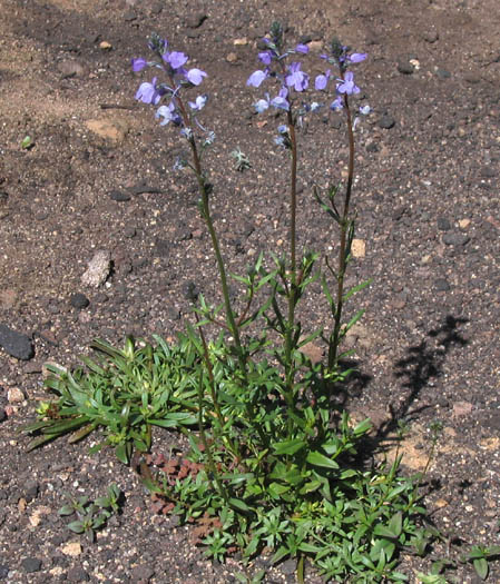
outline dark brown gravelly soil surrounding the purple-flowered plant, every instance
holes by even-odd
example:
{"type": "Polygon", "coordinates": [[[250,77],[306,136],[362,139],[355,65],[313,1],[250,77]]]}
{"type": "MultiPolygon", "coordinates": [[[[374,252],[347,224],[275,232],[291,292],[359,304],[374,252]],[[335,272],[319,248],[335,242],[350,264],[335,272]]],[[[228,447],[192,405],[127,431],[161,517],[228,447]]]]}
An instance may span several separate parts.
{"type": "MultiPolygon", "coordinates": [[[[55,442],[26,453],[17,430],[46,398],[42,366],[71,365],[95,338],[171,338],[195,285],[217,299],[196,185],[173,170],[177,133],[134,93],[151,31],[185,50],[208,78],[205,120],[216,227],[229,271],[286,240],[286,156],[276,120],[257,117],[245,87],[256,42],[281,19],[314,55],[335,33],[369,60],[357,67],[373,112],[356,132],[356,257],[349,281],[372,277],[365,317],[349,338],[361,375],[349,395],[391,447],[410,424],[403,464],[422,469],[428,425],[444,429],[428,507],[467,544],[498,545],[500,507],[499,189],[500,9],[497,0],[0,0],[0,581],[231,583],[236,562],[210,565],[189,529],[155,516],[130,469],[109,452],[55,442]],[[31,136],[35,146],[20,147],[31,136]],[[253,167],[233,169],[239,147],[253,167]],[[82,279],[104,251],[112,270],[82,279]],[[80,540],[58,516],[62,494],[100,496],[116,482],[122,514],[80,540]]],[[[345,178],[341,118],[325,112],[301,135],[301,247],[334,251],[312,187],[345,178]]],[[[320,290],[302,319],[326,311],[320,290]]],[[[356,306],[357,308],[357,306],[356,306]]],[[[155,436],[158,449],[171,437],[155,436]]],[[[447,553],[437,548],[437,553],[447,553]]],[[[265,563],[258,558],[257,564],[265,563]]],[[[402,571],[429,568],[403,558],[402,571]]],[[[266,582],[294,582],[288,562],[266,582]]],[[[470,566],[457,582],[479,582],[470,566]]],[[[315,578],[310,577],[314,583],[315,578]]],[[[500,582],[491,564],[489,582],[500,582]]]]}

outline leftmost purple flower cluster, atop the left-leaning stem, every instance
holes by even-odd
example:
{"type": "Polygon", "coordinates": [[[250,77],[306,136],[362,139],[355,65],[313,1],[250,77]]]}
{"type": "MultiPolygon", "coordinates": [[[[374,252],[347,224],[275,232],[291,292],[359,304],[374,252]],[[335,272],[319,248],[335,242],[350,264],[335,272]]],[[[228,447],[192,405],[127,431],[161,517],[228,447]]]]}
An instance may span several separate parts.
{"type": "MultiPolygon", "coordinates": [[[[136,92],[136,99],[144,103],[151,103],[157,106],[164,96],[169,96],[168,105],[160,106],[156,110],[155,117],[160,119],[160,126],[166,126],[170,121],[177,126],[185,126],[187,120],[183,115],[183,107],[179,102],[179,95],[183,87],[197,87],[207,77],[205,71],[198,68],[187,69],[185,65],[189,57],[180,51],[168,50],[168,41],[161,39],[157,34],[153,34],[149,42],[149,48],[156,55],[158,60],[147,61],[143,57],[131,60],[131,68],[138,72],[147,67],[155,67],[166,73],[168,82],[158,82],[158,78],[154,77],[151,82],[144,82],[139,86],[136,92]]],[[[207,96],[197,96],[194,101],[188,101],[188,106],[196,115],[200,111],[207,102],[207,96]]],[[[196,120],[196,118],[195,118],[196,120]]],[[[197,120],[196,120],[197,121],[197,120]]],[[[199,122],[198,126],[204,129],[199,122]]],[[[184,128],[184,136],[187,133],[187,128],[184,128]]]]}

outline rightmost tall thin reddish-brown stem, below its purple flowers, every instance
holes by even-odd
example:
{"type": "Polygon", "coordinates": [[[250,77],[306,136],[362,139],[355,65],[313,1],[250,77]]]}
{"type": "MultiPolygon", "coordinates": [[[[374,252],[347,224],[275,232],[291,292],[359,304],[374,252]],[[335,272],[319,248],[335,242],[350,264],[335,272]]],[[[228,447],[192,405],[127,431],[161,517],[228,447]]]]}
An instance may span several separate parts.
{"type": "MultiPolygon", "coordinates": [[[[344,73],[341,70],[341,78],[344,78],[344,73]]],[[[337,273],[337,291],[336,291],[336,310],[333,334],[331,336],[329,347],[329,370],[332,372],[337,364],[339,356],[339,339],[341,334],[342,325],[342,309],[344,304],[344,276],[347,267],[347,234],[352,221],[349,219],[350,202],[352,184],[354,177],[354,132],[352,129],[351,109],[349,107],[347,93],[344,93],[344,108],[347,118],[347,136],[349,136],[349,174],[347,174],[347,186],[345,189],[344,208],[340,220],[341,227],[341,246],[339,249],[339,273],[337,273]]]]}

